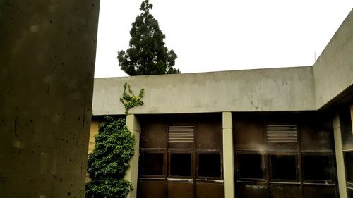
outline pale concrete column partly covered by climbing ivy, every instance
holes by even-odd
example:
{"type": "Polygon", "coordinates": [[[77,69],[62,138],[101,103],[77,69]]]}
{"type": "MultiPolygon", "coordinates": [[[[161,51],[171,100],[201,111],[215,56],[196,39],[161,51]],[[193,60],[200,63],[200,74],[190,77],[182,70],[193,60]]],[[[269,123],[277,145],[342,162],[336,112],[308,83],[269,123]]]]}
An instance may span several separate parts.
{"type": "Polygon", "coordinates": [[[128,194],[127,198],[137,197],[137,179],[138,179],[138,156],[140,148],[140,123],[135,115],[129,114],[126,116],[126,126],[128,130],[135,136],[135,154],[130,160],[130,168],[126,171],[125,179],[130,181],[133,185],[133,190],[128,194]]]}

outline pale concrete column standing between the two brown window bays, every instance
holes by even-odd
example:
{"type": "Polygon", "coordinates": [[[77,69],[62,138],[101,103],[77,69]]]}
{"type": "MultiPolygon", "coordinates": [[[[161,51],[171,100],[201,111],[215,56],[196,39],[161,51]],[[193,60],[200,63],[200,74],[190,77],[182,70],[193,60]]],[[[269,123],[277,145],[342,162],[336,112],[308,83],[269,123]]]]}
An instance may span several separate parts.
{"type": "Polygon", "coordinates": [[[232,113],[223,112],[223,178],[225,197],[234,197],[234,149],[232,113]]]}

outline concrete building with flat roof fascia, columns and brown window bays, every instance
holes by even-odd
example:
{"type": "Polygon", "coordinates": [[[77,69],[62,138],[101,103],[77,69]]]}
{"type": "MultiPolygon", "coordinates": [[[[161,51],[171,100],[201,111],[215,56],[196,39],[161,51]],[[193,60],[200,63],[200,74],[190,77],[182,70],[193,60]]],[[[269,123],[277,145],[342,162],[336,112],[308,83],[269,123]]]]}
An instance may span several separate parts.
{"type": "Polygon", "coordinates": [[[313,66],[95,79],[91,134],[124,116],[129,197],[353,197],[353,12],[313,66]]]}

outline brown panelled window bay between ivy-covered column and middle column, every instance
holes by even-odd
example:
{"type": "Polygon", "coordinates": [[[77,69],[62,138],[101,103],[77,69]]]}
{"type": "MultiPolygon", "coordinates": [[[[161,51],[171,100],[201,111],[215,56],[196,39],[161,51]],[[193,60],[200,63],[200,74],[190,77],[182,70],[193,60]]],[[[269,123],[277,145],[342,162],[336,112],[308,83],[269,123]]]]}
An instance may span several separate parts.
{"type": "Polygon", "coordinates": [[[139,197],[224,196],[222,117],[216,117],[172,116],[141,124],[139,197]]]}

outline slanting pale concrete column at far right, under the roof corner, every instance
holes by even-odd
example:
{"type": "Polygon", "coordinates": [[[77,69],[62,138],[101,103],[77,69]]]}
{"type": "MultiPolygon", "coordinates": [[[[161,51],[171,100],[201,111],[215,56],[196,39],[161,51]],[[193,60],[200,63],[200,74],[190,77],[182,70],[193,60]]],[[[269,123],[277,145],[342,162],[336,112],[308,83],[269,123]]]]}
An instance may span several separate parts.
{"type": "Polygon", "coordinates": [[[333,133],[335,138],[338,191],[340,192],[340,198],[347,198],[345,161],[342,152],[342,132],[340,116],[338,114],[333,118],[333,133]]]}

